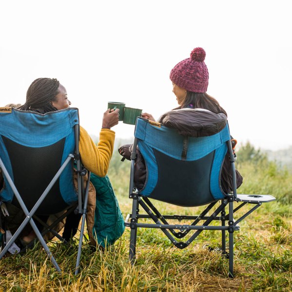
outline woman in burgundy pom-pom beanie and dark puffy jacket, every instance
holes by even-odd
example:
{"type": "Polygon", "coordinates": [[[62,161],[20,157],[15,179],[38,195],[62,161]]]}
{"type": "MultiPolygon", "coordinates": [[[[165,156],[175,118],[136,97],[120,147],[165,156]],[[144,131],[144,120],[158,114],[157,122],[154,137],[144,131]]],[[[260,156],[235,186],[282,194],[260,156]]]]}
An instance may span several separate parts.
{"type": "MultiPolygon", "coordinates": [[[[162,115],[158,122],[165,126],[170,124],[178,125],[182,123],[183,126],[187,125],[184,132],[191,132],[193,129],[192,116],[197,114],[192,110],[181,111],[181,109],[202,109],[207,110],[214,114],[218,114],[226,122],[227,113],[221,108],[219,102],[212,96],[206,93],[208,88],[209,73],[206,64],[204,63],[206,53],[202,48],[195,48],[190,57],[184,59],[174,66],[171,70],[169,78],[172,81],[172,92],[175,94],[179,107],[162,115]],[[225,117],[226,116],[226,117],[225,117]],[[170,119],[173,119],[170,121],[170,119]],[[171,122],[167,125],[167,122],[171,122]],[[187,121],[187,123],[185,123],[187,121]]],[[[210,113],[211,114],[211,113],[210,113]]],[[[207,113],[205,114],[207,115],[207,113]]],[[[149,113],[142,113],[142,117],[155,121],[153,116],[149,113]]],[[[217,118],[217,117],[216,117],[217,118]]],[[[207,119],[207,117],[205,118],[207,119]]],[[[187,134],[185,134],[187,135],[187,134]]],[[[124,145],[119,148],[119,152],[126,159],[130,160],[131,146],[124,145]]],[[[228,154],[226,154],[221,175],[221,187],[225,193],[232,191],[232,176],[231,167],[228,154]]],[[[236,170],[237,174],[237,188],[242,183],[242,176],[236,170]]],[[[135,163],[134,182],[138,190],[141,190],[146,180],[146,166],[141,152],[137,148],[137,158],[135,163]]]]}

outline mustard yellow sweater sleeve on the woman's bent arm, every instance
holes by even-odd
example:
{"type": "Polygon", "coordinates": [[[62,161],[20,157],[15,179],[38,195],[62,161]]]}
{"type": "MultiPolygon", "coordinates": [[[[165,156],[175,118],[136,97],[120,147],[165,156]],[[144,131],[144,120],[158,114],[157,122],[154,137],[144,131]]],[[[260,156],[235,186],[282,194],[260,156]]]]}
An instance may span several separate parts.
{"type": "Polygon", "coordinates": [[[113,151],[115,132],[101,129],[99,142],[94,144],[87,131],[80,127],[79,151],[82,164],[94,174],[106,176],[113,151]]]}

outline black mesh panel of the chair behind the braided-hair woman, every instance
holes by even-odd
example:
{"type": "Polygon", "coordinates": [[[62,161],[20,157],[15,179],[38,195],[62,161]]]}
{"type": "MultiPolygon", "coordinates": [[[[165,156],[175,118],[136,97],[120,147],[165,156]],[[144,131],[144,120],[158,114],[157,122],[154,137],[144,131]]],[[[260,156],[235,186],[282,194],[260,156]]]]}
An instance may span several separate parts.
{"type": "MultiPolygon", "coordinates": [[[[27,147],[2,136],[13,169],[14,183],[30,211],[61,166],[65,138],[46,147],[27,147]]],[[[20,207],[14,196],[12,203],[20,207]]],[[[38,207],[36,214],[49,215],[67,206],[59,190],[59,179],[38,207]]]]}

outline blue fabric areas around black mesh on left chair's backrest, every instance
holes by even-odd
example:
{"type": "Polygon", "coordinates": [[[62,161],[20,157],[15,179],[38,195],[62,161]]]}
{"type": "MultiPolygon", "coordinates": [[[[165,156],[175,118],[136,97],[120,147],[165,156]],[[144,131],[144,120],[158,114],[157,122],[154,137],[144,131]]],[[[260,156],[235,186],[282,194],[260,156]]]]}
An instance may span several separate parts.
{"type": "MultiPolygon", "coordinates": [[[[0,135],[28,147],[50,146],[66,137],[62,163],[75,147],[74,125],[79,124],[78,109],[69,108],[46,114],[12,109],[11,113],[0,113],[0,135]],[[34,135],[37,133],[37,135],[34,135]]],[[[0,138],[0,157],[13,180],[8,153],[0,138]]],[[[71,204],[77,200],[73,185],[72,164],[68,164],[60,176],[60,192],[64,201],[71,204]]],[[[24,170],[25,171],[25,170],[24,170]]],[[[6,179],[5,190],[1,192],[3,201],[12,201],[13,192],[6,179]]]]}

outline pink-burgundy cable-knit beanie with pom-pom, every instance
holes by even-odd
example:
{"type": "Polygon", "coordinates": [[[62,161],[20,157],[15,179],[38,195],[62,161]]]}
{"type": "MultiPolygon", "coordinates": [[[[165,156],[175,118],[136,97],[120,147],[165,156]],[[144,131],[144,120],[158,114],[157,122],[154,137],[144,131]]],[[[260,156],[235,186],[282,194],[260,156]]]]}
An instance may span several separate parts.
{"type": "Polygon", "coordinates": [[[190,58],[174,66],[169,75],[170,80],[187,91],[206,92],[209,73],[204,63],[205,56],[204,49],[195,48],[190,58]]]}

